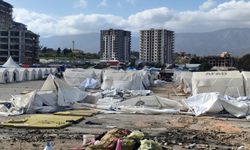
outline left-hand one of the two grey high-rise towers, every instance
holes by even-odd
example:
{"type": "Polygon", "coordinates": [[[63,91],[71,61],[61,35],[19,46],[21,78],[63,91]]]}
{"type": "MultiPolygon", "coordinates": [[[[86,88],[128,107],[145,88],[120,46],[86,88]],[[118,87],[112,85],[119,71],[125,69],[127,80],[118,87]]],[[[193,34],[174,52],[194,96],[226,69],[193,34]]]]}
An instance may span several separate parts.
{"type": "Polygon", "coordinates": [[[128,62],[131,49],[131,32],[124,30],[101,30],[100,54],[102,60],[128,62]]]}

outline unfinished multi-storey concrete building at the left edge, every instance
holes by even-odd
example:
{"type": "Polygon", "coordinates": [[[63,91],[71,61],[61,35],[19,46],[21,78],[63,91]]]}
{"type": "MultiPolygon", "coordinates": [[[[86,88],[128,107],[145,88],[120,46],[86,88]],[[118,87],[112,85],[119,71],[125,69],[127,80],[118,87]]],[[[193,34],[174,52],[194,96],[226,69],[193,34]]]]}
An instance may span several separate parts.
{"type": "Polygon", "coordinates": [[[12,19],[13,6],[0,0],[0,64],[12,56],[21,64],[39,62],[39,35],[12,19]]]}

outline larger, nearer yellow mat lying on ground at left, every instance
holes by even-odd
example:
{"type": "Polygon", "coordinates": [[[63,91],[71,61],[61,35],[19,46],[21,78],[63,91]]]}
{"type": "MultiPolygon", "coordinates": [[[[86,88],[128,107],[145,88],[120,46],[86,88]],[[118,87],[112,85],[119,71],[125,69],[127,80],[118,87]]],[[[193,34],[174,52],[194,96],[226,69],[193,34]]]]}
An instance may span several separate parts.
{"type": "Polygon", "coordinates": [[[1,125],[14,128],[60,129],[72,125],[73,122],[80,122],[83,119],[83,116],[35,114],[23,119],[11,119],[2,122],[1,125]]]}

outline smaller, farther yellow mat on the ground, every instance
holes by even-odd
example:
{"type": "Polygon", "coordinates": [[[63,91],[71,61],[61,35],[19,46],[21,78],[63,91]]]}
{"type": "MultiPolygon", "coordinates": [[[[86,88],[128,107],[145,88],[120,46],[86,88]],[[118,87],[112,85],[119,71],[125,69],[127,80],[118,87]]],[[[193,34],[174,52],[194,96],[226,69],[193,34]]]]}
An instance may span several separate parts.
{"type": "Polygon", "coordinates": [[[62,112],[56,112],[55,115],[70,115],[70,116],[85,116],[90,117],[94,114],[98,113],[98,111],[93,109],[82,109],[82,110],[68,110],[68,111],[62,111],[62,112]]]}

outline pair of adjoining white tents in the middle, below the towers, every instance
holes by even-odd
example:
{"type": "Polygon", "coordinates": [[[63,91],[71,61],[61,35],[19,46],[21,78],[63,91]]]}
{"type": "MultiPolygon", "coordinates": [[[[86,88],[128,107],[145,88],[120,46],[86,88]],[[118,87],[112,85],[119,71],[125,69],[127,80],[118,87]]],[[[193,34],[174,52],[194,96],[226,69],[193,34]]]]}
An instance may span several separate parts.
{"type": "Polygon", "coordinates": [[[63,76],[68,84],[75,87],[88,78],[95,79],[102,90],[145,90],[152,83],[150,73],[144,70],[66,69],[63,76]]]}

